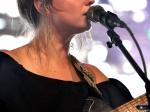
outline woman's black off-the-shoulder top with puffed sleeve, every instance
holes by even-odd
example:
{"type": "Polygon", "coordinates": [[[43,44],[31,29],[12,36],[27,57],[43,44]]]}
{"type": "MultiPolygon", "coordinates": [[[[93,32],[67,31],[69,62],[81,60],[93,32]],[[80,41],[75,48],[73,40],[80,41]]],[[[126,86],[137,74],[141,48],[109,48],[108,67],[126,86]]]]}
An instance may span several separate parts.
{"type": "MultiPolygon", "coordinates": [[[[112,108],[132,99],[118,80],[110,79],[97,86],[112,108]]],[[[86,82],[39,76],[24,69],[9,55],[0,53],[0,109],[8,112],[81,112],[88,96],[97,97],[97,94],[86,82]]]]}

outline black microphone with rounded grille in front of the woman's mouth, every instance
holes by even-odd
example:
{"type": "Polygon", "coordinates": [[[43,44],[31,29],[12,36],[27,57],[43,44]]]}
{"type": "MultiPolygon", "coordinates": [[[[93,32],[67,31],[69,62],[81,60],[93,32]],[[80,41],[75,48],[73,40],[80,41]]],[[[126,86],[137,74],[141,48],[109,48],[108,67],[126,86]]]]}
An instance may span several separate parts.
{"type": "Polygon", "coordinates": [[[126,24],[118,16],[110,11],[105,11],[99,5],[91,6],[87,12],[87,18],[92,22],[100,22],[109,30],[115,27],[125,28],[126,24]]]}

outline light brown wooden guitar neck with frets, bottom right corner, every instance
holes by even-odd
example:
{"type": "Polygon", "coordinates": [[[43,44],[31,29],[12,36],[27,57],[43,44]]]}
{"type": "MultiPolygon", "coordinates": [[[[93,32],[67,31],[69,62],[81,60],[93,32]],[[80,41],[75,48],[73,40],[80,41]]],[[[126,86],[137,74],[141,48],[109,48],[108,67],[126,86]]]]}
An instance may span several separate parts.
{"type": "Polygon", "coordinates": [[[146,98],[146,94],[143,94],[123,105],[121,105],[120,107],[112,110],[111,112],[144,112],[141,110],[136,109],[136,106],[138,104],[146,104],[147,98],[146,98]]]}

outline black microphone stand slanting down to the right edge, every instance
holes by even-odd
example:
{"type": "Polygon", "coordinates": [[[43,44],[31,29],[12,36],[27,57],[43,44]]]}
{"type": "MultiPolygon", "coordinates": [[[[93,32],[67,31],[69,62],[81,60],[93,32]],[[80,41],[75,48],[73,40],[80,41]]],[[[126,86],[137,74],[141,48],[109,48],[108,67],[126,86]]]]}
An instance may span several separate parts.
{"type": "Polygon", "coordinates": [[[146,97],[147,97],[148,104],[137,105],[136,106],[137,109],[150,111],[150,81],[149,81],[149,79],[146,77],[145,73],[140,69],[140,67],[137,65],[135,60],[131,57],[129,52],[123,46],[119,35],[117,35],[113,30],[108,30],[107,35],[110,37],[110,40],[111,40],[111,42],[107,42],[107,46],[109,48],[112,47],[112,44],[115,44],[116,46],[118,46],[119,49],[121,50],[121,52],[124,54],[124,56],[130,62],[130,64],[133,66],[133,68],[136,70],[136,72],[139,74],[139,76],[145,82],[146,97]]]}

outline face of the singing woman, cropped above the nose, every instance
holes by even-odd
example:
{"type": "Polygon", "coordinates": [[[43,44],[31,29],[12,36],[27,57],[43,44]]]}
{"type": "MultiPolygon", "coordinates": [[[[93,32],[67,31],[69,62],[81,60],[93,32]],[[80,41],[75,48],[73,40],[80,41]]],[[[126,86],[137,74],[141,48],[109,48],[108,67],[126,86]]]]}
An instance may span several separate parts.
{"type": "Polygon", "coordinates": [[[50,15],[57,32],[73,35],[89,30],[86,13],[94,0],[53,0],[50,15]]]}

